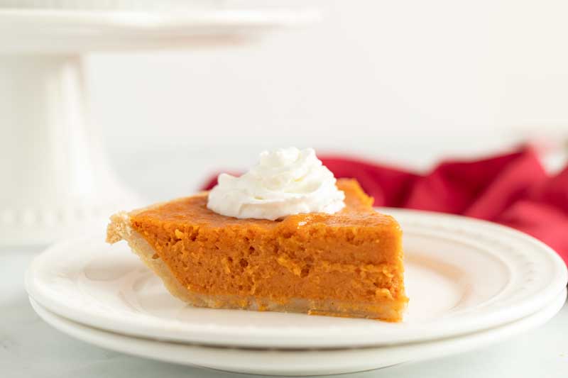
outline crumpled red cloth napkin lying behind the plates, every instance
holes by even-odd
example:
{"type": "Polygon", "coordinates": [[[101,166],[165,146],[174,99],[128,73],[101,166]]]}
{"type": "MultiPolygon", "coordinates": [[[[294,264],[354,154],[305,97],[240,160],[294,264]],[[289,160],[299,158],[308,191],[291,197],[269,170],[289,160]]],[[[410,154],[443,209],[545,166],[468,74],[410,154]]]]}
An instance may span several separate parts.
{"type": "MultiPolygon", "coordinates": [[[[375,206],[441,211],[501,223],[542,240],[568,264],[568,166],[545,172],[532,148],[442,162],[417,174],[349,157],[320,157],[336,177],[354,177],[375,206]]],[[[217,177],[204,185],[211,189],[217,177]]]]}

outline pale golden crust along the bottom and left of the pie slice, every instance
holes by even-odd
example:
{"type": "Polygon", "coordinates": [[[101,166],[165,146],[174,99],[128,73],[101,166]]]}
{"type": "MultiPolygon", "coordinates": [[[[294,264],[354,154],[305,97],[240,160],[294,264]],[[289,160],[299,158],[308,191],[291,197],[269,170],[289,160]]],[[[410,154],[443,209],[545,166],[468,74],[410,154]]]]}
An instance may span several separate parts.
{"type": "Polygon", "coordinates": [[[176,298],[192,306],[207,308],[230,308],[253,311],[278,311],[293,313],[308,313],[310,315],[342,316],[349,318],[380,318],[383,321],[399,321],[400,313],[406,307],[406,301],[393,304],[388,301],[384,304],[343,302],[335,300],[310,300],[293,298],[286,303],[271,301],[271,299],[257,298],[255,296],[212,295],[190,291],[182,286],[170,271],[168,265],[155,254],[153,247],[143,236],[130,226],[128,213],[121,212],[111,216],[111,223],[107,229],[107,242],[114,244],[119,240],[126,240],[131,250],[155,274],[160,277],[164,286],[176,298]]]}

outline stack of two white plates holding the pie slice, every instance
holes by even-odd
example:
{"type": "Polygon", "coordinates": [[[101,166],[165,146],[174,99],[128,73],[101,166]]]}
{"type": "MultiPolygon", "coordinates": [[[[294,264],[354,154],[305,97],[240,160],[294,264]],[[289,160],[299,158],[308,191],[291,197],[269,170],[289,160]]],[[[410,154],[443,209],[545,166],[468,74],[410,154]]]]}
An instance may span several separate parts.
{"type": "Polygon", "coordinates": [[[103,348],[233,372],[355,372],[477,348],[545,323],[567,269],[516,230],[471,218],[382,209],[405,232],[410,304],[402,323],[194,308],[103,235],[33,261],[31,304],[55,328],[103,348]]]}

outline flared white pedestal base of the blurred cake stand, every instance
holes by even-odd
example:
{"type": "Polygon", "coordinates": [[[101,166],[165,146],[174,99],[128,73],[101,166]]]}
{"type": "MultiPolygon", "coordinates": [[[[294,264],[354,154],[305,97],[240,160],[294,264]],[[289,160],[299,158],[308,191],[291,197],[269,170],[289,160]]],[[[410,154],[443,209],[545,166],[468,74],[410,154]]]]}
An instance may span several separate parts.
{"type": "Polygon", "coordinates": [[[88,119],[78,55],[0,55],[0,245],[103,230],[136,204],[88,119]]]}

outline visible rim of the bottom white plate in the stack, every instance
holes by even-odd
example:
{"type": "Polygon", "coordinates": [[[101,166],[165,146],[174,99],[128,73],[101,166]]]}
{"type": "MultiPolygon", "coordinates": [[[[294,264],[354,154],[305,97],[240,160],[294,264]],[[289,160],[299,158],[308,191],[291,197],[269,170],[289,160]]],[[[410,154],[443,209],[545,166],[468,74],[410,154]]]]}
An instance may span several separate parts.
{"type": "MultiPolygon", "coordinates": [[[[533,328],[537,328],[542,326],[542,324],[549,321],[551,318],[556,316],[556,314],[566,305],[566,298],[567,298],[567,289],[564,288],[561,293],[557,295],[550,304],[546,304],[543,308],[540,308],[535,313],[530,314],[529,316],[525,316],[517,321],[513,321],[510,323],[506,323],[502,326],[498,326],[496,328],[490,328],[487,330],[481,330],[476,333],[471,333],[467,335],[459,335],[452,338],[444,338],[442,340],[432,340],[427,341],[424,343],[409,343],[403,345],[392,345],[392,346],[383,346],[383,347],[368,347],[368,348],[344,348],[344,349],[336,349],[336,350],[258,350],[258,349],[246,349],[246,348],[216,348],[210,345],[189,345],[189,344],[180,344],[175,342],[168,342],[163,340],[151,340],[145,338],[132,338],[128,335],[121,335],[119,333],[109,332],[107,330],[99,330],[97,328],[92,328],[86,326],[82,323],[77,323],[70,319],[67,319],[63,316],[59,316],[56,313],[49,311],[48,309],[44,308],[37,302],[35,302],[31,297],[29,298],[31,302],[31,306],[33,310],[38,313],[38,316],[43,319],[46,323],[48,323],[53,328],[59,330],[66,335],[70,335],[71,337],[81,340],[85,343],[89,343],[92,345],[97,345],[100,348],[106,348],[109,350],[114,350],[116,352],[123,352],[129,355],[134,355],[137,357],[146,357],[151,358],[153,360],[160,360],[165,362],[173,362],[182,365],[192,365],[192,366],[199,366],[199,367],[207,367],[212,369],[222,369],[224,371],[231,371],[231,372],[239,372],[239,373],[246,373],[246,374],[295,374],[295,375],[313,375],[313,374],[342,374],[347,372],[361,372],[366,369],[377,369],[380,367],[391,366],[399,363],[410,362],[410,361],[420,361],[420,360],[427,360],[430,358],[436,358],[441,356],[453,355],[459,352],[466,352],[468,350],[472,350],[475,348],[480,348],[486,345],[491,345],[498,341],[510,338],[514,335],[518,335],[520,333],[526,332],[533,328]],[[54,323],[55,319],[55,323],[54,323]],[[66,328],[65,328],[66,327],[66,328]],[[72,330],[72,331],[70,331],[72,330]],[[90,335],[90,337],[89,337],[90,335]],[[93,336],[94,335],[94,336],[93,336]],[[104,341],[104,337],[109,338],[110,340],[106,343],[104,341]],[[97,339],[94,341],[94,339],[97,339]],[[131,342],[136,343],[138,345],[138,349],[136,351],[132,351],[132,348],[127,348],[124,346],[123,343],[116,343],[116,340],[120,340],[122,342],[126,342],[127,344],[131,342]],[[119,346],[120,345],[120,346],[119,346]],[[143,345],[143,347],[141,346],[143,345]],[[160,349],[165,348],[175,348],[175,350],[184,351],[187,350],[187,353],[184,355],[183,358],[175,356],[174,353],[156,353],[155,350],[148,352],[141,352],[141,348],[152,348],[155,345],[159,345],[160,349]],[[421,350],[422,349],[422,350],[421,350]],[[214,351],[214,352],[221,352],[223,357],[222,359],[217,360],[226,360],[227,353],[231,355],[234,360],[234,355],[241,353],[246,353],[249,356],[244,358],[244,356],[240,357],[241,361],[254,361],[254,364],[250,365],[253,367],[246,367],[241,365],[240,367],[234,366],[221,366],[221,365],[214,365],[212,366],[211,363],[206,365],[200,365],[199,362],[195,360],[188,361],[188,355],[195,355],[196,351],[214,351]],[[446,350],[447,352],[441,352],[441,350],[446,350]],[[332,355],[335,357],[339,357],[340,353],[346,353],[351,358],[330,358],[332,355]],[[283,354],[282,354],[283,353],[283,354]],[[365,354],[365,357],[356,356],[359,360],[365,360],[367,365],[359,367],[352,367],[351,369],[346,366],[346,363],[343,365],[339,365],[334,367],[334,371],[322,371],[313,365],[308,368],[308,370],[302,371],[302,367],[297,367],[297,358],[300,357],[302,359],[310,358],[313,359],[314,355],[318,353],[323,353],[329,357],[326,358],[327,363],[329,361],[351,361],[352,357],[356,356],[357,353],[365,354]],[[385,354],[390,353],[390,362],[388,360],[388,356],[385,357],[385,354]],[[420,354],[421,353],[421,354],[420,354]],[[251,355],[253,354],[253,355],[251,355]],[[372,362],[376,363],[377,357],[381,357],[383,354],[383,362],[381,364],[372,365],[372,362]],[[269,355],[271,357],[271,363],[267,366],[266,362],[263,367],[258,367],[258,357],[259,355],[269,355]],[[290,355],[295,356],[295,363],[285,365],[283,362],[280,362],[280,367],[275,366],[274,361],[278,356],[283,356],[290,358],[290,355]],[[398,357],[396,360],[396,356],[403,356],[398,357]],[[410,358],[409,358],[410,355],[410,358]],[[374,358],[373,358],[374,357],[374,358]],[[393,358],[395,360],[393,360],[393,358]],[[386,362],[385,360],[386,359],[386,362]],[[368,362],[372,361],[372,362],[368,362]],[[282,367],[285,366],[285,367],[282,367]],[[290,366],[293,369],[290,369],[290,366]],[[232,370],[231,370],[232,368],[232,370]],[[270,371],[268,371],[270,369],[270,371]]],[[[192,357],[195,358],[195,357],[192,357]]],[[[293,358],[293,357],[292,357],[293,358]]],[[[319,357],[320,360],[322,357],[319,357]]],[[[209,357],[209,360],[214,360],[214,358],[209,357]]],[[[347,362],[349,363],[349,362],[347,362]]],[[[361,362],[359,362],[361,364],[361,362]]],[[[246,364],[245,364],[246,365],[246,364]]],[[[329,369],[329,367],[327,367],[329,369]]]]}

